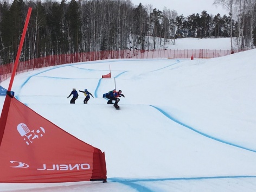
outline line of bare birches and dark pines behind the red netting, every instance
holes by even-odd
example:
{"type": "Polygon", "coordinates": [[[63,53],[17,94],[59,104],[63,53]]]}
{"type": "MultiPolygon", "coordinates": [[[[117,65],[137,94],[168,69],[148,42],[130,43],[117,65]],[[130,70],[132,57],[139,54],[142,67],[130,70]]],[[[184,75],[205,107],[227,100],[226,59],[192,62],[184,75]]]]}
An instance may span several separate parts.
{"type": "Polygon", "coordinates": [[[33,10],[21,60],[103,50],[150,50],[162,43],[159,38],[164,39],[164,44],[170,41],[174,44],[176,38],[182,37],[234,36],[240,48],[252,46],[256,39],[255,0],[215,3],[223,5],[229,1],[234,7],[237,5],[236,20],[232,14],[213,16],[206,10],[184,17],[167,8],[161,11],[141,3],[135,7],[130,0],[14,0],[11,4],[3,0],[0,2],[0,63],[15,60],[29,7],[33,10]]]}

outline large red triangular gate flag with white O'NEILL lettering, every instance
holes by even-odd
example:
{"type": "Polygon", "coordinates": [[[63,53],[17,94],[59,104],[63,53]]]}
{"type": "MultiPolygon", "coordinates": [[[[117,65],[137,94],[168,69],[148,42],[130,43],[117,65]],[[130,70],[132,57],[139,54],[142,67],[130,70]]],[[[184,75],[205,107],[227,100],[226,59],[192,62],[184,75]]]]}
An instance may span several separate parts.
{"type": "Polygon", "coordinates": [[[0,118],[0,182],[106,181],[105,153],[10,95],[0,118]]]}

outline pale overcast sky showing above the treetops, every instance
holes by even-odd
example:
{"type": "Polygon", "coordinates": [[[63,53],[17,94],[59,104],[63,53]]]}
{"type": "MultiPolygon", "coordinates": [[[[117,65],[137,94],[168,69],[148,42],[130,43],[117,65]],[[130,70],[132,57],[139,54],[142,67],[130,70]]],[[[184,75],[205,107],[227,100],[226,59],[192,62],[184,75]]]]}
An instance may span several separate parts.
{"type": "Polygon", "coordinates": [[[153,9],[163,10],[164,7],[170,10],[176,10],[178,15],[182,15],[187,17],[192,14],[201,14],[203,10],[206,10],[210,15],[217,15],[218,13],[223,16],[228,16],[228,10],[223,9],[222,5],[218,5],[216,8],[213,5],[214,0],[131,0],[134,5],[148,5],[152,4],[153,9]]]}

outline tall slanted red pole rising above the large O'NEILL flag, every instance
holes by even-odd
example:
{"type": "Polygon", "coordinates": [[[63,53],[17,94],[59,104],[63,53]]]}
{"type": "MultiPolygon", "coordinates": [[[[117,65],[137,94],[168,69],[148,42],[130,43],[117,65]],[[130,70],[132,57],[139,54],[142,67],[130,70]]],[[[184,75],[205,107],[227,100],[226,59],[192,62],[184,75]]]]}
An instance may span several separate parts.
{"type": "Polygon", "coordinates": [[[14,63],[14,69],[12,70],[11,80],[10,80],[10,84],[9,84],[9,87],[8,87],[8,91],[11,91],[12,83],[14,82],[14,76],[15,76],[16,69],[17,69],[17,66],[18,66],[18,60],[20,59],[21,50],[22,50],[24,39],[25,39],[25,34],[26,34],[26,31],[27,31],[27,28],[28,28],[28,22],[29,22],[29,18],[30,18],[30,15],[31,15],[31,11],[32,11],[32,8],[28,8],[28,14],[27,14],[27,17],[26,17],[26,20],[25,20],[24,29],[23,29],[23,33],[22,33],[22,36],[21,36],[20,46],[18,46],[18,52],[17,52],[15,63],[14,63]]]}

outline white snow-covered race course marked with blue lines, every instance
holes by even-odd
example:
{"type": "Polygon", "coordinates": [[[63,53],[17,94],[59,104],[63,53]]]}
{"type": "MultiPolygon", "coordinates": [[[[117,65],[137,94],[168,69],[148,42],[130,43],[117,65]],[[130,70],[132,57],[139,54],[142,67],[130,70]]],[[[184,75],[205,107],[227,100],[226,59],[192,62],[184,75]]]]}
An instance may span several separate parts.
{"type": "MultiPolygon", "coordinates": [[[[222,40],[220,49],[229,41],[222,40]]],[[[108,182],[0,183],[0,191],[254,192],[255,60],[253,49],[216,59],[102,60],[16,75],[18,100],[105,151],[108,182]],[[112,78],[101,79],[109,66],[112,78]],[[120,110],[101,98],[114,78],[125,95],[120,110]],[[95,98],[84,105],[80,93],[71,105],[73,87],[95,98]]]]}

